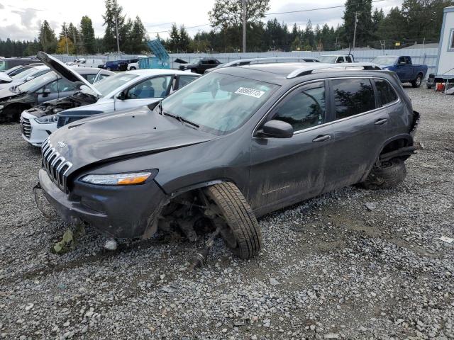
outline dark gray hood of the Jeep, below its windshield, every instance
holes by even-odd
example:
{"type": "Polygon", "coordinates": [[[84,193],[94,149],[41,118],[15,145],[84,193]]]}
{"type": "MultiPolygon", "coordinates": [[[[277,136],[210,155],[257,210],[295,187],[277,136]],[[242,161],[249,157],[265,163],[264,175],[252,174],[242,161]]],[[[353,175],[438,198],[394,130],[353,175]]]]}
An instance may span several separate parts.
{"type": "Polygon", "coordinates": [[[65,125],[52,133],[50,144],[73,164],[70,175],[84,166],[177,149],[214,138],[143,106],[65,125]]]}

